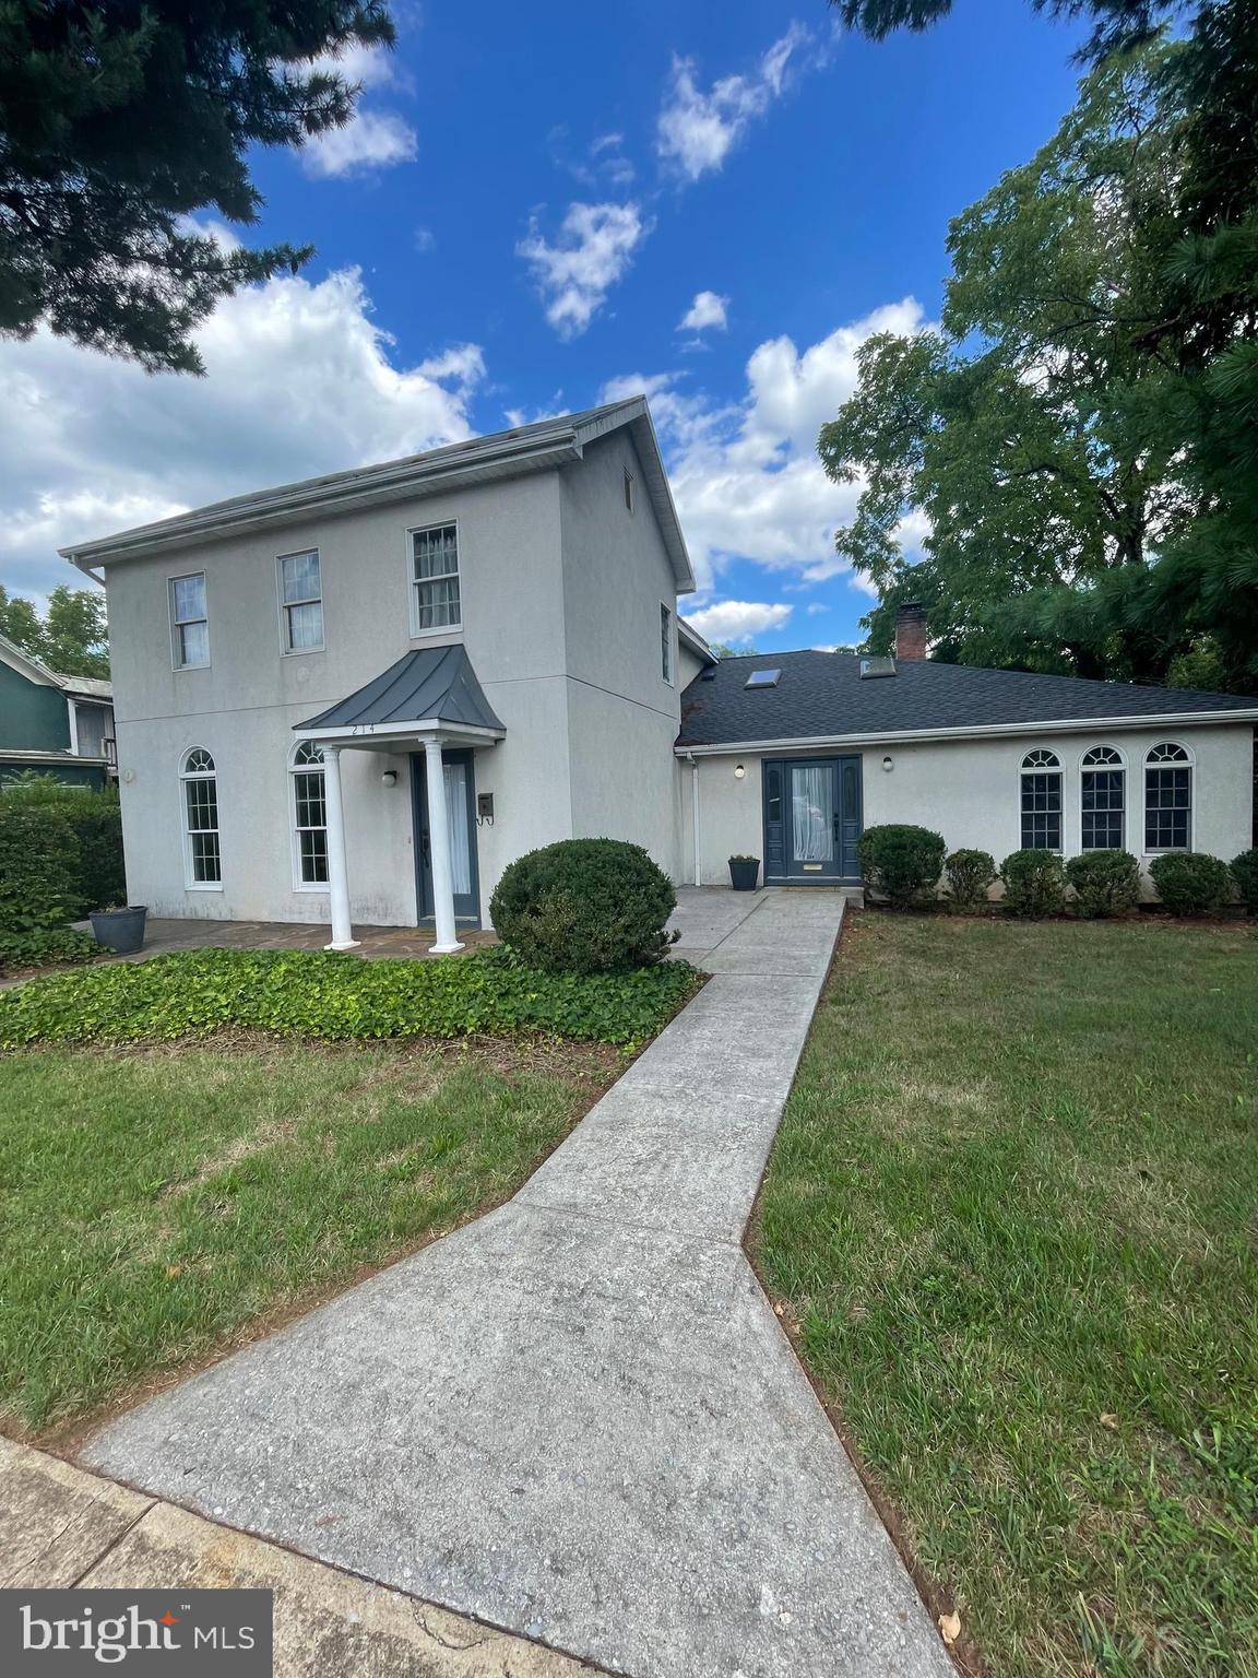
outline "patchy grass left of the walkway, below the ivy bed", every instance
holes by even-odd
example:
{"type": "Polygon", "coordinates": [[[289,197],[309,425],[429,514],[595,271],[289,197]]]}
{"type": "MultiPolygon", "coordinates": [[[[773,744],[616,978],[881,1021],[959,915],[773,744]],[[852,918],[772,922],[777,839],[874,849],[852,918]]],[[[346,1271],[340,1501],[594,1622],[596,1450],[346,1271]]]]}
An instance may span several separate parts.
{"type": "Polygon", "coordinates": [[[81,1418],[508,1196],[617,1059],[257,1042],[0,1057],[0,1423],[81,1418]]]}

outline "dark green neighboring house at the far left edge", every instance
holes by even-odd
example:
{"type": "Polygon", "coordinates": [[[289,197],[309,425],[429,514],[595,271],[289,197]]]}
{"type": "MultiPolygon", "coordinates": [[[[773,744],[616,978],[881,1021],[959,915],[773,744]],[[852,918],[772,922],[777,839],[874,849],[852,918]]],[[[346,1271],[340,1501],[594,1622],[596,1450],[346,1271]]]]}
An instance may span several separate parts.
{"type": "Polygon", "coordinates": [[[0,636],[0,785],[23,770],[102,787],[114,762],[112,688],[59,676],[0,636]]]}

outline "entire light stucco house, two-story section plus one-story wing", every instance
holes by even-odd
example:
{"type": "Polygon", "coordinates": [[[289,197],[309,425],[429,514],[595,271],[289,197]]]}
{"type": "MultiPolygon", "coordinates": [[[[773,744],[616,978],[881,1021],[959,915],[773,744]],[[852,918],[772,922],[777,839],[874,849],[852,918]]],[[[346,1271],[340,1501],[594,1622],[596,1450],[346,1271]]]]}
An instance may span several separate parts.
{"type": "Polygon", "coordinates": [[[65,550],[104,571],[127,881],[154,915],[488,925],[507,862],[642,844],[859,886],[862,824],[949,847],[1251,842],[1258,705],[896,659],[716,659],[644,398],[65,550]]]}

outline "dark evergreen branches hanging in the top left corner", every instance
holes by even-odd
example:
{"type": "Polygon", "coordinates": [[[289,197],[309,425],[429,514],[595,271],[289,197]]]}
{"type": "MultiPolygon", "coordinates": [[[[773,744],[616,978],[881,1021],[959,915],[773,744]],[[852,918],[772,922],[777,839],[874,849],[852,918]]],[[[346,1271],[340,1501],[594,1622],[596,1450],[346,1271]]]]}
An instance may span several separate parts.
{"type": "Polygon", "coordinates": [[[357,89],[322,64],[392,39],[382,0],[0,0],[0,332],[200,373],[196,324],[312,248],[188,218],[257,221],[248,148],[346,122],[357,89]]]}

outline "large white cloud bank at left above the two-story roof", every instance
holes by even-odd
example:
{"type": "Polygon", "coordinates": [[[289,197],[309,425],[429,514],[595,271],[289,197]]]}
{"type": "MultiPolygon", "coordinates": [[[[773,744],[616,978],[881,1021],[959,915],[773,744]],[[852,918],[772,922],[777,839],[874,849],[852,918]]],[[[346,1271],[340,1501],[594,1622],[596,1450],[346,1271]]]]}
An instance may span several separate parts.
{"type": "Polygon", "coordinates": [[[485,373],[463,344],[411,367],[357,270],[226,299],[196,332],[206,378],[148,376],[49,332],[0,341],[0,579],[74,581],[57,547],[226,495],[468,436],[485,373]]]}

